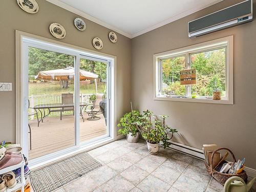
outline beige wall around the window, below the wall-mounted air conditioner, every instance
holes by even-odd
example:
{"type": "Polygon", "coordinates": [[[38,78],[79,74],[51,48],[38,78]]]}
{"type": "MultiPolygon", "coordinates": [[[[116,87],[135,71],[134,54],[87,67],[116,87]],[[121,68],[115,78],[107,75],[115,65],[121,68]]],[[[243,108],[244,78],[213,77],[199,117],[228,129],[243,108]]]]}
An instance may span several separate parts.
{"type": "MultiPolygon", "coordinates": [[[[187,22],[241,1],[225,0],[173,23],[132,39],[132,101],[134,109],[170,116],[179,130],[174,139],[201,148],[217,143],[230,148],[246,166],[256,168],[256,21],[189,39],[187,22]],[[153,100],[153,54],[234,36],[234,104],[209,104],[153,100]]],[[[254,10],[256,2],[254,1],[254,10]]]]}

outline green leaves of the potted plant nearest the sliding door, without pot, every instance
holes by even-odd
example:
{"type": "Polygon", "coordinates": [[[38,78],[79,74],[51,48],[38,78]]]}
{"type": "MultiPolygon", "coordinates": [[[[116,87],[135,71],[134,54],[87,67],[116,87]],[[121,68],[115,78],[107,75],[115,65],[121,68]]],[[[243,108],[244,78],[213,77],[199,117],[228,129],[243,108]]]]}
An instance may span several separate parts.
{"type": "Polygon", "coordinates": [[[121,135],[127,135],[132,133],[132,136],[136,136],[136,133],[139,131],[135,122],[139,120],[141,117],[139,111],[132,111],[130,113],[126,113],[121,117],[120,122],[117,124],[118,127],[122,127],[118,132],[121,135]]]}

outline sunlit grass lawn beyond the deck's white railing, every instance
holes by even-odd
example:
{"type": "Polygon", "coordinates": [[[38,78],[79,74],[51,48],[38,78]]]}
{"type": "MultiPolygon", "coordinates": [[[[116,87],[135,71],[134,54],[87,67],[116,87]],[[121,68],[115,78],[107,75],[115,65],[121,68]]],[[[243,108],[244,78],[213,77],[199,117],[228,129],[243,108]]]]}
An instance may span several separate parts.
{"type": "MultiPolygon", "coordinates": [[[[98,93],[103,93],[105,83],[97,84],[98,93]]],[[[74,84],[69,84],[68,89],[62,89],[57,82],[29,82],[30,95],[61,95],[61,93],[74,93],[74,84]]],[[[95,94],[95,84],[80,83],[80,94],[95,94]]]]}

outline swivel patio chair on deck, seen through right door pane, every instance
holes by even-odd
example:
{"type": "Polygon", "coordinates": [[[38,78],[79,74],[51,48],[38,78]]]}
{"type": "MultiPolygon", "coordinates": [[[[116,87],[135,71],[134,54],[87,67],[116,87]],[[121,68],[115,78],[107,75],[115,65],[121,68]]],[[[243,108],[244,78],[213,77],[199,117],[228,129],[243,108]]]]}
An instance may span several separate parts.
{"type": "Polygon", "coordinates": [[[100,117],[97,116],[99,114],[102,114],[102,110],[100,108],[100,101],[103,100],[103,95],[104,94],[96,94],[96,100],[94,104],[89,104],[86,107],[86,113],[88,114],[89,118],[87,118],[88,120],[99,120],[100,117]],[[91,109],[87,109],[88,107],[92,107],[91,109]]]}

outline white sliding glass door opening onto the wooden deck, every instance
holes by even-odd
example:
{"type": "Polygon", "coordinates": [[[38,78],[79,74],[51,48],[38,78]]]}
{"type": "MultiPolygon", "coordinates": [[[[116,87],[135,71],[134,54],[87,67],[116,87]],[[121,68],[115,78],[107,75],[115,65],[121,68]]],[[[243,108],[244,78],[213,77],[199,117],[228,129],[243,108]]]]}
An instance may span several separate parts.
{"type": "Polygon", "coordinates": [[[111,60],[24,40],[22,140],[41,162],[113,137],[111,60]]]}

